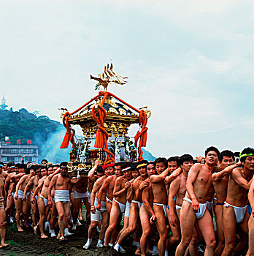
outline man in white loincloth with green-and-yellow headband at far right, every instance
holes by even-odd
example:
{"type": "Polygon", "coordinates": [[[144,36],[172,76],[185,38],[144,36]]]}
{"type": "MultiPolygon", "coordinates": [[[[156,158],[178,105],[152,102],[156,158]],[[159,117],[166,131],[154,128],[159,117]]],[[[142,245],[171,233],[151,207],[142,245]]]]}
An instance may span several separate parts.
{"type": "Polygon", "coordinates": [[[240,154],[242,167],[232,170],[228,179],[228,193],[223,208],[223,230],[225,236],[224,255],[245,250],[247,247],[248,220],[247,193],[250,189],[254,173],[254,149],[245,148],[240,154]],[[228,225],[230,223],[230,225],[228,225]],[[239,233],[242,239],[234,249],[236,243],[236,226],[243,232],[239,233]]]}

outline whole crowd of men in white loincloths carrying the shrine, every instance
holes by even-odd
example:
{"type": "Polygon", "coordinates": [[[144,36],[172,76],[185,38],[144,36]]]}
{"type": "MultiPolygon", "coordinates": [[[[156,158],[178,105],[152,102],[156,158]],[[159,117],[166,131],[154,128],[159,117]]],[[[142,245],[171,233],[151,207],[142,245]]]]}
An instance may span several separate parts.
{"type": "Polygon", "coordinates": [[[22,233],[31,219],[35,235],[65,241],[81,225],[84,203],[84,249],[99,231],[96,246],[120,253],[134,233],[136,255],[164,256],[172,248],[177,256],[199,255],[202,248],[204,255],[254,255],[254,149],[237,160],[211,146],[195,159],[184,154],[102,166],[96,160],[88,176],[74,178],[68,162],[0,162],[0,248],[8,246],[6,223],[16,222],[22,233]]]}

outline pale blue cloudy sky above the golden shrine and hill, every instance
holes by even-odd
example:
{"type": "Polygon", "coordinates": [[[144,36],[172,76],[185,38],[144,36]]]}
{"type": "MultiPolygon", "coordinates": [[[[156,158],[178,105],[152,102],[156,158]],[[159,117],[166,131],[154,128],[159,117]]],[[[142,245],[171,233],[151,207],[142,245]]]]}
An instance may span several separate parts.
{"type": "Polygon", "coordinates": [[[89,76],[112,61],[128,83],[108,91],[151,110],[146,149],[155,157],[242,151],[254,143],[253,6],[0,0],[0,97],[61,121],[58,108],[96,96],[89,76]]]}

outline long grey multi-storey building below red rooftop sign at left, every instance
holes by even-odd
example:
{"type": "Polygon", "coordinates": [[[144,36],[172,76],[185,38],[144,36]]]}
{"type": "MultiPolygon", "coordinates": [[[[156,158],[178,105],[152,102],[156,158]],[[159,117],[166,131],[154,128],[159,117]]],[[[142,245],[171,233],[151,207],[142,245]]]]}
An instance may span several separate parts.
{"type": "Polygon", "coordinates": [[[26,162],[38,162],[39,147],[35,145],[21,145],[0,143],[0,161],[7,163],[13,161],[19,163],[26,154],[26,162]]]}

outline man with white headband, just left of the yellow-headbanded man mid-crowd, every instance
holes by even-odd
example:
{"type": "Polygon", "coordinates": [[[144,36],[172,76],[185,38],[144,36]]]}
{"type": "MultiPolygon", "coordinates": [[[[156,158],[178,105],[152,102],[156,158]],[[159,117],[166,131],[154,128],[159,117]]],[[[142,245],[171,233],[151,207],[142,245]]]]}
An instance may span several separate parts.
{"type": "Polygon", "coordinates": [[[118,224],[119,224],[118,218],[121,217],[124,211],[126,210],[127,189],[128,187],[131,187],[130,180],[132,178],[131,163],[123,164],[122,172],[123,172],[123,176],[119,176],[115,180],[115,187],[113,191],[114,198],[113,198],[112,208],[109,216],[109,227],[107,227],[107,230],[105,233],[104,246],[109,245],[109,241],[111,239],[112,233],[118,228],[118,224]]]}

